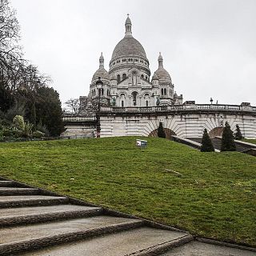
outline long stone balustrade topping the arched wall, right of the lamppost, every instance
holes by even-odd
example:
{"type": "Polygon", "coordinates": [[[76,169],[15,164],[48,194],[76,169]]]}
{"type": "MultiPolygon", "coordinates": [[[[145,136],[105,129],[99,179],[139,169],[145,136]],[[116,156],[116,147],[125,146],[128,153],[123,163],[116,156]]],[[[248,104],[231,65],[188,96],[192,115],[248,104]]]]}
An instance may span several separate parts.
{"type": "Polygon", "coordinates": [[[101,112],[108,113],[154,113],[177,112],[184,110],[222,110],[222,111],[249,111],[256,112],[256,106],[221,105],[221,104],[192,104],[173,106],[131,106],[131,107],[102,107],[101,112]]]}

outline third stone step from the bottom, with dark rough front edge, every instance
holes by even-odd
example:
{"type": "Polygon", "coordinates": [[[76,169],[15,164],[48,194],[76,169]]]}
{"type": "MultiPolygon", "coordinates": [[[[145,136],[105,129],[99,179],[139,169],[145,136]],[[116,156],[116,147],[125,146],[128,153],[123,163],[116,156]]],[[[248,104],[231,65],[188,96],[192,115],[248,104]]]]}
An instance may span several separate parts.
{"type": "Polygon", "coordinates": [[[143,223],[132,218],[98,216],[4,228],[0,230],[0,255],[129,230],[142,226],[143,223]]]}

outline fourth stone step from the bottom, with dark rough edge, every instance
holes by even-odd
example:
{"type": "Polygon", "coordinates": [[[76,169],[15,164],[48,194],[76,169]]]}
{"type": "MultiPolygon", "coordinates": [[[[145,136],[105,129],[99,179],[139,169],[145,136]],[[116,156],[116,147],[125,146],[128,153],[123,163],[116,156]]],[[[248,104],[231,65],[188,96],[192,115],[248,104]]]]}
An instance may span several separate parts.
{"type": "Polygon", "coordinates": [[[102,214],[102,208],[90,206],[58,205],[0,209],[0,227],[63,218],[81,218],[102,214]]]}

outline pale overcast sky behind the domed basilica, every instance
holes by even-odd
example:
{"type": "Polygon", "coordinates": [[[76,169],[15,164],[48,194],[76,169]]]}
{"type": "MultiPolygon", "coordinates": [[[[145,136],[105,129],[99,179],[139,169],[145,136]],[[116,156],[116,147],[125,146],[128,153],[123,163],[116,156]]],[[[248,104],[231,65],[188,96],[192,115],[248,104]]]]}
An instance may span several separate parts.
{"type": "Polygon", "coordinates": [[[178,94],[256,106],[256,0],[10,0],[25,58],[66,102],[87,95],[103,52],[108,70],[126,14],[151,74],[162,52],[178,94]]]}

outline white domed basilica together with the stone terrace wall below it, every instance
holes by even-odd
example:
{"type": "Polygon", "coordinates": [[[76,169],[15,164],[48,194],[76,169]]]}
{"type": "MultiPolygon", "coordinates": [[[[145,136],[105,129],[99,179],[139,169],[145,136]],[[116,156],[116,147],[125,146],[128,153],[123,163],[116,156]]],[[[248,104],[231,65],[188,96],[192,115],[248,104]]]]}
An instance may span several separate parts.
{"type": "Polygon", "coordinates": [[[244,137],[256,138],[255,106],[249,102],[183,103],[182,94],[176,94],[170,73],[164,68],[162,54],[152,78],[149,66],[146,51],[132,34],[128,15],[125,36],[114,47],[109,71],[101,54],[90,93],[80,97],[80,113],[63,117],[66,132],[62,136],[94,137],[97,129],[100,137],[156,136],[162,122],[167,137],[199,138],[205,128],[214,137],[222,133],[223,123],[229,122],[231,130],[238,125],[244,137]]]}

